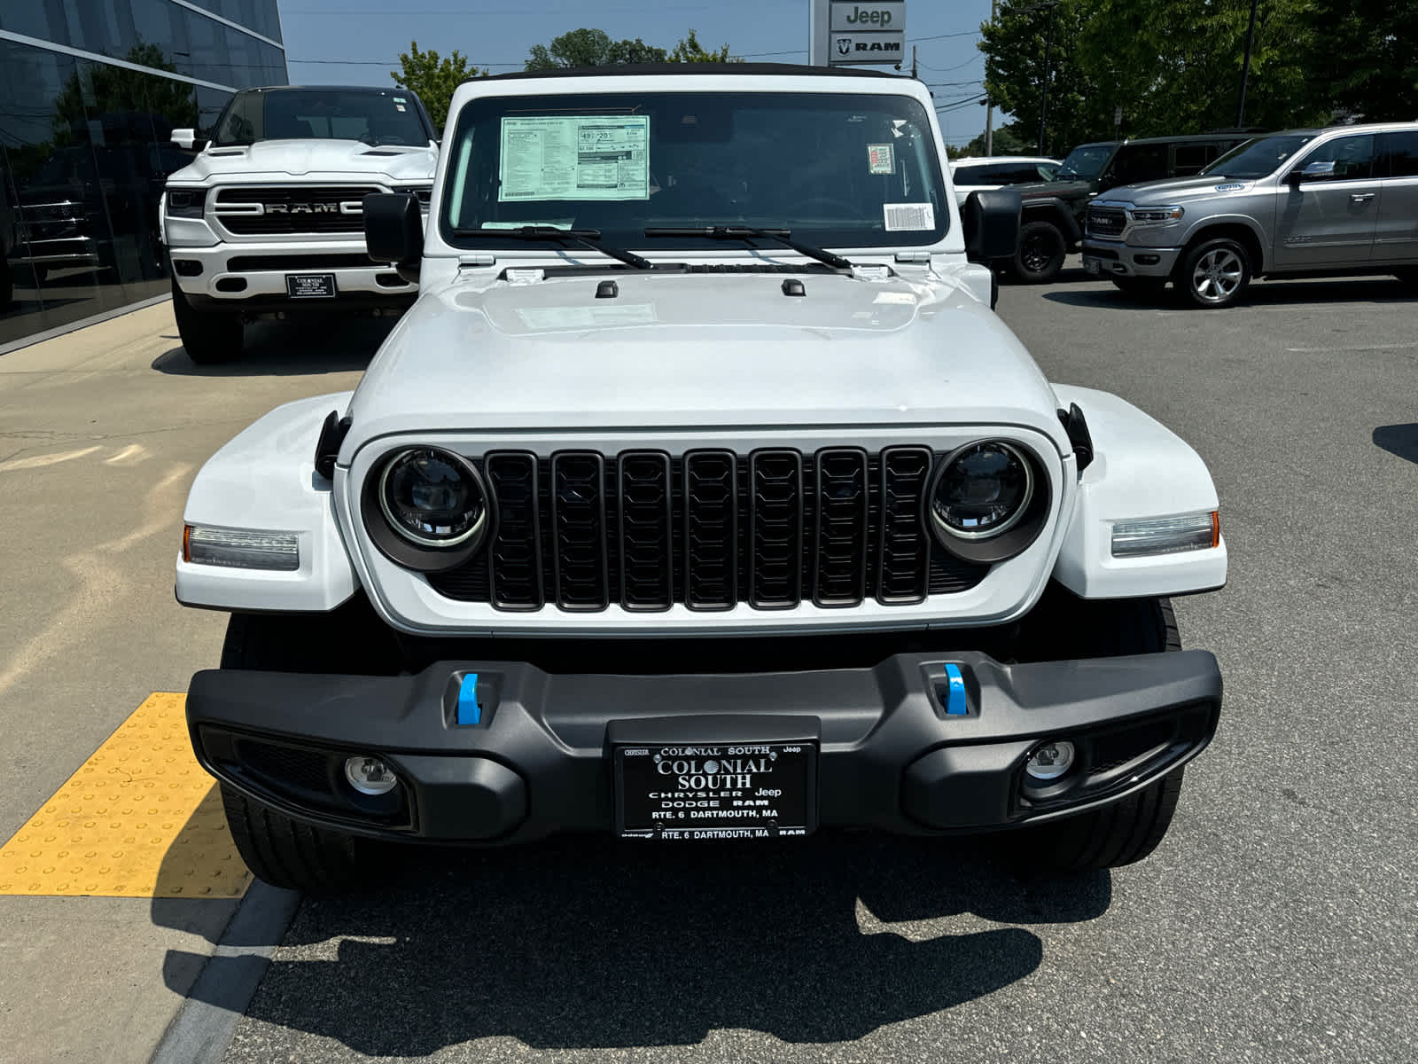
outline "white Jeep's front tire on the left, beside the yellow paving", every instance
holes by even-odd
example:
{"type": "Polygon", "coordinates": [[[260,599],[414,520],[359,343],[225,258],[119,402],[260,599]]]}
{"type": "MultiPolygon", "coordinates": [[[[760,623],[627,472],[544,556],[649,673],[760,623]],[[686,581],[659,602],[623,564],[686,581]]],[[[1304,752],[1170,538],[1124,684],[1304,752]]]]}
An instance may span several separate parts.
{"type": "MultiPolygon", "coordinates": [[[[235,613],[227,623],[221,667],[394,675],[398,654],[369,603],[357,599],[322,614],[235,613]]],[[[340,894],[377,885],[389,867],[379,843],[302,823],[225,783],[221,803],[241,860],[275,887],[340,894]]]]}

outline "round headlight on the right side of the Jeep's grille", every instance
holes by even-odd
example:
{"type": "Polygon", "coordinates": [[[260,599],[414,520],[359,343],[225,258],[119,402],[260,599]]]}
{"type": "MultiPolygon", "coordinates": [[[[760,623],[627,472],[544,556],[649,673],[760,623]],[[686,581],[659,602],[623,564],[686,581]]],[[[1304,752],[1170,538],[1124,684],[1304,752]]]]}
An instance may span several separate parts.
{"type": "Polygon", "coordinates": [[[1048,514],[1046,478],[1024,448],[978,440],[936,468],[926,519],[936,541],[973,562],[1001,562],[1027,548],[1048,514]]]}

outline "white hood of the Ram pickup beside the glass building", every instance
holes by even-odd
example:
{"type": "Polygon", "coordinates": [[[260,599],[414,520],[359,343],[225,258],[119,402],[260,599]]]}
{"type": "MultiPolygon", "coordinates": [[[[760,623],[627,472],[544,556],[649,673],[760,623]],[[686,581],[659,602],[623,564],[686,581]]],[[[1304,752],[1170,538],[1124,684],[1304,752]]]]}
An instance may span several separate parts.
{"type": "Polygon", "coordinates": [[[366,145],[362,140],[259,140],[208,148],[191,166],[169,177],[173,184],[268,183],[292,177],[384,177],[390,183],[432,183],[438,149],[366,145]]]}

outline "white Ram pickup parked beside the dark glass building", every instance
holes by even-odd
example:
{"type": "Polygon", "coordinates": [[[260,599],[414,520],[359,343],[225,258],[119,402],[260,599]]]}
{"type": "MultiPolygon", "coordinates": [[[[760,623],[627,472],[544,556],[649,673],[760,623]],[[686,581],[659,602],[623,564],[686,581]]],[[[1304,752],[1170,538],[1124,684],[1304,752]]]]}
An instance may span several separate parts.
{"type": "MultiPolygon", "coordinates": [[[[196,148],[196,132],[173,131],[196,148]]],[[[407,89],[281,87],[237,92],[159,210],[173,312],[193,362],[241,353],[259,315],[393,312],[418,287],[364,253],[363,201],[427,207],[438,145],[407,89]]]]}

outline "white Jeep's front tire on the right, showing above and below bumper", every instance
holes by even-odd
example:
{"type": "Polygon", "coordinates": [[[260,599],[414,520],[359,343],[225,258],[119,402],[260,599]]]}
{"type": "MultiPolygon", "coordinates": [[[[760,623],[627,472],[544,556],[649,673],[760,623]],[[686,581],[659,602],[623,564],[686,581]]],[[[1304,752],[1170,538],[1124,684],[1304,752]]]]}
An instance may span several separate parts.
{"type": "MultiPolygon", "coordinates": [[[[1122,657],[1181,650],[1167,599],[1083,600],[1055,593],[1042,623],[1061,638],[1045,657],[1122,657]]],[[[1029,875],[1117,868],[1161,843],[1181,796],[1183,769],[1100,809],[1000,836],[1004,858],[1029,875]]]]}

